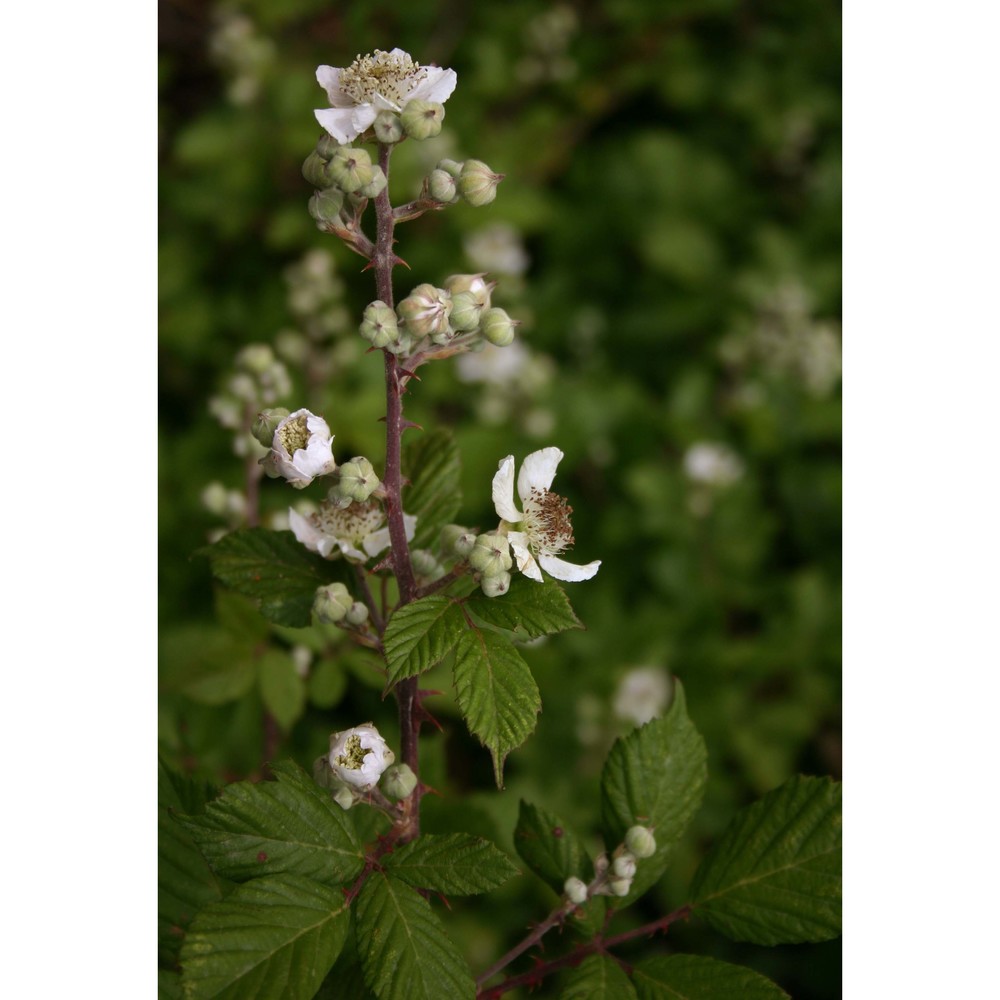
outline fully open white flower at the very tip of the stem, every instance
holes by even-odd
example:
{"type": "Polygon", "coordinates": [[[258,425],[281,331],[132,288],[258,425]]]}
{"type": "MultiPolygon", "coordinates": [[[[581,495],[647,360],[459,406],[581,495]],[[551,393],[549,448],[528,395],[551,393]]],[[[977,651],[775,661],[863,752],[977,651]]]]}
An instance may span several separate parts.
{"type": "Polygon", "coordinates": [[[320,66],[316,79],[330,98],[316,120],[337,140],[347,143],[367,129],[380,111],[403,110],[413,100],[444,104],[455,89],[453,69],[421,66],[402,49],[358,56],[346,69],[320,66]]]}

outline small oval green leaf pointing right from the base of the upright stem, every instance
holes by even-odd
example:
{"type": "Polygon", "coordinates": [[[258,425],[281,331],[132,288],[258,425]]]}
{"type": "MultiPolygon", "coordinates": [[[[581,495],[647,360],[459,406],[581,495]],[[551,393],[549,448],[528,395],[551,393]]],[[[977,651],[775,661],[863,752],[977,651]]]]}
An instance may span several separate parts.
{"type": "Polygon", "coordinates": [[[488,840],[465,833],[424,834],[390,854],[385,869],[417,889],[452,896],[489,892],[520,874],[488,840]]]}

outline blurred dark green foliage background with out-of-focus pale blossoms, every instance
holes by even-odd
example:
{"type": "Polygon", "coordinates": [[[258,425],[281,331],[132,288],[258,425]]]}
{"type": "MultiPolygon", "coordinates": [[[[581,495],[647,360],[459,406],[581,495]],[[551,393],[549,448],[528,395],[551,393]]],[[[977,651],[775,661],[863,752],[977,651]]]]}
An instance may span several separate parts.
{"type": "MultiPolygon", "coordinates": [[[[454,428],[470,525],[495,523],[501,458],[557,444],[571,558],[603,560],[567,588],[588,630],[525,651],[544,710],[504,792],[446,670],[428,676],[444,733],[422,740],[442,793],[425,800],[425,826],[512,850],[525,798],[594,846],[601,762],[638,721],[625,678],[653,668],[632,680],[646,677],[648,707],[676,674],[709,786],[635,919],[667,912],[738,807],[797,771],[839,776],[839,5],[168,0],[161,12],[168,759],[231,780],[282,756],[308,766],[331,730],[363,720],[390,742],[396,731],[363,651],[336,630],[268,626],[215,592],[195,552],[244,517],[254,454],[245,442],[234,453],[239,419],[220,426],[225,407],[209,401],[232,398],[249,344],[271,345],[286,369],[280,405],[322,413],[338,457],[381,468],[381,359],[356,333],[371,276],[314,227],[300,166],[325,104],[316,65],[400,46],[459,83],[442,135],[398,149],[393,200],[442,156],[483,159],[506,180],[488,208],[400,227],[411,270],[397,269],[397,295],[486,270],[494,301],[523,321],[509,370],[485,355],[429,366],[407,415],[454,428]],[[265,711],[262,692],[278,689],[265,711]]],[[[259,489],[265,523],[301,499],[280,482],[259,489]]],[[[449,926],[474,965],[551,903],[528,881],[495,894],[502,920],[460,904],[449,926]]],[[[839,995],[839,945],[740,947],[700,925],[670,937],[797,998],[839,995]]]]}

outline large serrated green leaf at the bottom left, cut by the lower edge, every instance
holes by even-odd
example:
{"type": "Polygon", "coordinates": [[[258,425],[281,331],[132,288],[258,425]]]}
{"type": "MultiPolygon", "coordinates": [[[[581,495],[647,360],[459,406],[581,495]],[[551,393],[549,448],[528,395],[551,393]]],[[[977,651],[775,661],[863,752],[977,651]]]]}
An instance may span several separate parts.
{"type": "Polygon", "coordinates": [[[188,932],[186,1000],[311,1000],[344,946],[347,905],[339,889],[298,875],[239,886],[188,932]]]}

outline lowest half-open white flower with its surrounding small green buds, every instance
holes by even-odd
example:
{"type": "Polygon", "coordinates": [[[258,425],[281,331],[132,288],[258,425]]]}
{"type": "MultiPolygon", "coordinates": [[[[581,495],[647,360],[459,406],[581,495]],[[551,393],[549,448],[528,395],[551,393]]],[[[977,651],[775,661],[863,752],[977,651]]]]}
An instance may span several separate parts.
{"type": "Polygon", "coordinates": [[[404,799],[417,787],[412,769],[395,759],[379,731],[366,722],[330,734],[330,752],[314,761],[313,777],[342,809],[360,801],[385,807],[388,799],[404,799]]]}

